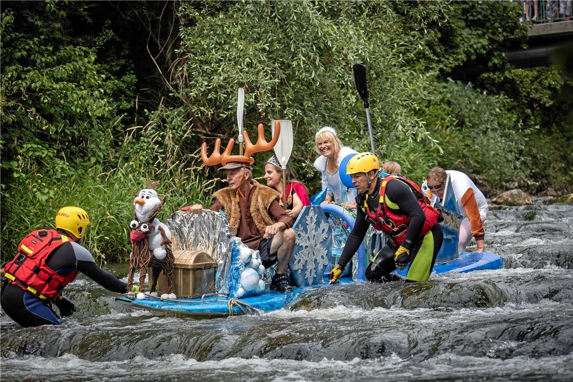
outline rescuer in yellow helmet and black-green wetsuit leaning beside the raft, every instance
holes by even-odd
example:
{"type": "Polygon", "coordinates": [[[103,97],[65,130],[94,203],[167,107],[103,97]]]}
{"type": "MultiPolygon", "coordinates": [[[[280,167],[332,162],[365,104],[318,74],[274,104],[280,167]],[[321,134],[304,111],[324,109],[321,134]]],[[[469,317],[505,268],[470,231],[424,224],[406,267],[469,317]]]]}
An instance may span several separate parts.
{"type": "Polygon", "coordinates": [[[384,231],[386,245],[368,264],[368,281],[397,281],[401,277],[390,273],[409,264],[406,281],[426,281],[444,240],[437,222],[439,212],[426,204],[411,180],[399,175],[380,178],[380,163],[373,153],[355,155],[346,170],[358,192],[356,223],[337,266],[329,274],[331,283],[342,274],[370,225],[384,231]]]}

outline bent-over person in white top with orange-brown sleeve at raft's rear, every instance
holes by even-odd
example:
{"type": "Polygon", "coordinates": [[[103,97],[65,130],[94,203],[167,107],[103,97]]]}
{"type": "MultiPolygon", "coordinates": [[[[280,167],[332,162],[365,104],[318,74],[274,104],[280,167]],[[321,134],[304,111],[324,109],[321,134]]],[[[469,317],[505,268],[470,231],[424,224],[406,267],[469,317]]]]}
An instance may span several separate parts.
{"type": "Polygon", "coordinates": [[[484,222],[488,217],[488,202],[468,175],[460,171],[445,171],[441,167],[431,168],[426,175],[426,187],[433,196],[437,196],[440,200],[444,197],[448,175],[462,215],[458,252],[462,253],[466,250],[472,236],[476,238],[477,245],[474,252],[483,252],[485,250],[484,222]]]}

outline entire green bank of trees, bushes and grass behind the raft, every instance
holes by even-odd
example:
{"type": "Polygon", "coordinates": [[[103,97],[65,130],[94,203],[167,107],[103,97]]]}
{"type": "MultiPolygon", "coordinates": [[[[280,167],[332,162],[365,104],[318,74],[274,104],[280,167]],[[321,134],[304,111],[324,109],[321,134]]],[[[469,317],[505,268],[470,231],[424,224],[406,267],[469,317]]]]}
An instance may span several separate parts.
{"type": "Polygon", "coordinates": [[[70,204],[89,212],[99,261],[125,259],[148,178],[168,195],[162,220],[209,204],[222,184],[197,149],[237,135],[239,87],[252,138],[293,121],[291,165],[318,191],[318,128],[370,149],[356,62],[377,154],[403,174],[461,170],[488,196],[570,191],[571,63],[512,68],[519,17],[516,2],[2,2],[2,259],[70,204]],[[467,62],[487,71],[460,74],[467,62]]]}

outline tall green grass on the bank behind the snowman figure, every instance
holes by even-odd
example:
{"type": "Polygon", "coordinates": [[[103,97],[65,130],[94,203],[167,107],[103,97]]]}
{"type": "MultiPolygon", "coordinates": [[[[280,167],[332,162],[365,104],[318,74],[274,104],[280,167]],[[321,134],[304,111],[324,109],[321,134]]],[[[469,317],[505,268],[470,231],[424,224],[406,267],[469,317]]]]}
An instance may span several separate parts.
{"type": "Polygon", "coordinates": [[[132,191],[146,187],[146,179],[159,180],[156,190],[167,196],[158,216],[163,222],[179,207],[209,201],[215,180],[205,181],[205,165],[197,152],[186,157],[181,166],[169,169],[140,168],[128,162],[112,171],[101,165],[75,171],[60,179],[33,171],[18,172],[2,196],[2,260],[13,255],[18,242],[29,231],[54,227],[58,209],[80,206],[90,218],[85,247],[100,261],[128,259],[129,222],[134,219],[132,191]]]}

